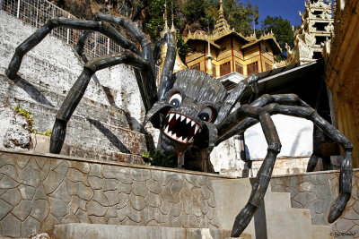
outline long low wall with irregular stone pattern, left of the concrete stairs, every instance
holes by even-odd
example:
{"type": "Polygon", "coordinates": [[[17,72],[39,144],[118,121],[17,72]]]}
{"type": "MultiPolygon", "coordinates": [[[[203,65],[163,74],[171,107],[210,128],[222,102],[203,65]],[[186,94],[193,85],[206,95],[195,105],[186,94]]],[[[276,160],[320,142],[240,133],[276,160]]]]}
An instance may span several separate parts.
{"type": "Polygon", "coordinates": [[[220,175],[0,149],[0,236],[66,223],[218,228],[220,175]]]}

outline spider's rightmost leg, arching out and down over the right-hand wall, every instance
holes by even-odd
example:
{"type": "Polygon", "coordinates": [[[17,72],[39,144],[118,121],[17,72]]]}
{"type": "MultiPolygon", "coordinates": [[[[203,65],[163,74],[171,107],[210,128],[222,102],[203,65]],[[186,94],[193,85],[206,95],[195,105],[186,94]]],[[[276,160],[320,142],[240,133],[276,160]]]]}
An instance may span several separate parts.
{"type": "MultiPolygon", "coordinates": [[[[264,95],[263,97],[254,101],[251,106],[263,107],[263,109],[266,110],[270,115],[292,115],[311,120],[313,124],[318,126],[331,139],[343,147],[344,156],[340,169],[339,195],[337,196],[336,201],[333,203],[328,216],[329,223],[337,220],[337,218],[340,217],[340,215],[343,213],[346,207],[346,202],[350,199],[352,191],[352,142],[349,141],[346,136],[339,132],[333,125],[324,120],[313,108],[311,108],[296,95],[264,95]]],[[[241,116],[238,121],[239,123],[233,128],[231,128],[231,122],[234,122],[232,114],[229,115],[228,119],[224,120],[222,124],[218,124],[218,138],[220,138],[219,142],[228,139],[231,135],[233,136],[236,133],[244,132],[250,126],[257,124],[258,120],[253,117],[241,116]]],[[[314,164],[316,160],[318,160],[318,156],[313,153],[310,158],[310,164],[314,164]]]]}

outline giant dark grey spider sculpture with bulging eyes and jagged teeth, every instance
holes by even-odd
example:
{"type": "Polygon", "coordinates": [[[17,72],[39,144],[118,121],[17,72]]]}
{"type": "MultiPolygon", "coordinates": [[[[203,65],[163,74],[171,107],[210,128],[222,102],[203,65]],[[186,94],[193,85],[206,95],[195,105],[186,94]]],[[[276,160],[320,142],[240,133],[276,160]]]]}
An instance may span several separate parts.
{"type": "MultiPolygon", "coordinates": [[[[220,142],[245,131],[253,124],[258,122],[261,124],[268,144],[267,156],[259,169],[257,181],[253,186],[247,205],[235,218],[232,236],[241,235],[267,191],[276,155],[281,149],[275,124],[270,117],[273,114],[293,115],[309,119],[343,147],[344,157],[340,171],[339,195],[332,205],[328,222],[334,222],[342,214],[352,188],[352,143],[297,96],[293,94],[264,95],[250,105],[242,105],[232,112],[244,90],[253,82],[258,81],[258,75],[251,75],[241,81],[232,90],[232,93],[228,94],[221,82],[209,74],[195,70],[172,73],[176,57],[173,33],[166,33],[153,47],[151,41],[145,38],[144,33],[136,27],[134,22],[105,14],[97,14],[96,21],[67,18],[48,20],[43,27],[16,48],[6,71],[10,79],[17,77],[23,55],[57,27],[84,30],[79,38],[76,51],[83,57],[85,64],[83,72],[69,90],[56,115],[50,152],[60,152],[66,136],[66,124],[83,98],[83,93],[92,74],[116,64],[129,64],[134,67],[136,81],[144,102],[145,122],[150,121],[155,128],[161,131],[160,147],[164,151],[180,155],[190,148],[197,148],[205,152],[203,158],[205,160],[220,142]],[[105,22],[119,25],[127,30],[136,38],[140,47],[105,22]],[[125,50],[118,54],[104,55],[88,61],[86,55],[83,54],[83,44],[92,31],[101,32],[125,50]],[[160,85],[156,90],[154,63],[159,56],[159,49],[165,43],[168,45],[168,50],[160,85]]],[[[317,156],[313,154],[311,161],[315,161],[316,158],[317,156]]]]}

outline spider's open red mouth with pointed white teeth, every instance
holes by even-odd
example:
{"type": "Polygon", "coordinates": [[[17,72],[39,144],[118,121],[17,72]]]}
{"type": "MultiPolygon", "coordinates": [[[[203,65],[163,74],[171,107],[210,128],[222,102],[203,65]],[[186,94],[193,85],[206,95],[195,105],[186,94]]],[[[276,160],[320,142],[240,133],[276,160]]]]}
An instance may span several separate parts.
{"type": "Polygon", "coordinates": [[[169,112],[166,116],[163,132],[175,141],[192,143],[202,127],[187,115],[169,112]]]}

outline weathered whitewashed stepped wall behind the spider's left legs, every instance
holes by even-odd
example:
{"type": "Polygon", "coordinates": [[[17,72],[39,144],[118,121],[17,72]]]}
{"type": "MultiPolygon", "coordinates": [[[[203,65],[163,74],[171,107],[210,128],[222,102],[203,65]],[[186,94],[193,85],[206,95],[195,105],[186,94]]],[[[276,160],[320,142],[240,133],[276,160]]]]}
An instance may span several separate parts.
{"type": "MultiPolygon", "coordinates": [[[[32,113],[35,129],[50,130],[83,63],[72,47],[48,36],[23,57],[21,79],[11,81],[4,73],[15,47],[36,29],[4,11],[0,22],[0,107],[24,108],[32,113]]],[[[143,117],[132,68],[104,69],[92,77],[69,121],[65,142],[70,154],[79,157],[118,160],[118,152],[138,155],[147,151],[140,131],[143,117]]]]}

